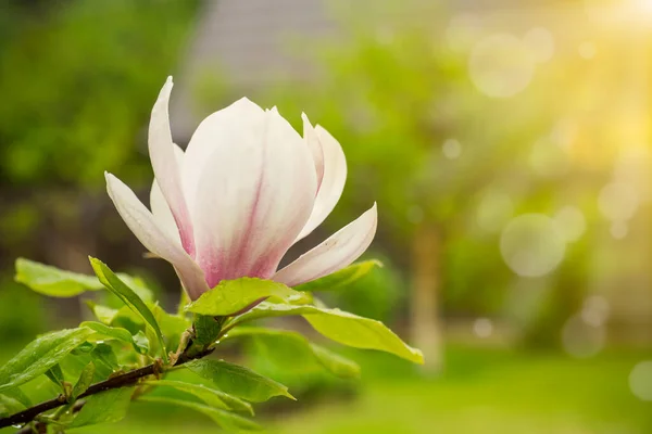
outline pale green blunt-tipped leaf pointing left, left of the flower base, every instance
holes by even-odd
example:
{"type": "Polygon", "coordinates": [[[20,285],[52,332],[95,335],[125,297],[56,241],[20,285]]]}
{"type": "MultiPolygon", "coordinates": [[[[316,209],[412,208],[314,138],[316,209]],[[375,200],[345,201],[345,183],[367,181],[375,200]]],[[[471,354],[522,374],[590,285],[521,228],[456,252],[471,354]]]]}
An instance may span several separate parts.
{"type": "Polygon", "coordinates": [[[86,291],[102,289],[102,284],[93,276],[64,271],[25,258],[16,259],[15,280],[52,297],[73,297],[86,291]]]}

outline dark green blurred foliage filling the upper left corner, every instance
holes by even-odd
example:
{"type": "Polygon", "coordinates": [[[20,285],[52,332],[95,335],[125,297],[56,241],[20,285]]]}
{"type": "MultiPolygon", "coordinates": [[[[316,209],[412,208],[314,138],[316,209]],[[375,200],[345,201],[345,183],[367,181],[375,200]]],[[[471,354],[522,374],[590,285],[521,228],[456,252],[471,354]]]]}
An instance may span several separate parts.
{"type": "Polygon", "coordinates": [[[196,1],[15,3],[0,46],[0,177],[97,188],[148,173],[136,152],[186,41],[196,1]]]}

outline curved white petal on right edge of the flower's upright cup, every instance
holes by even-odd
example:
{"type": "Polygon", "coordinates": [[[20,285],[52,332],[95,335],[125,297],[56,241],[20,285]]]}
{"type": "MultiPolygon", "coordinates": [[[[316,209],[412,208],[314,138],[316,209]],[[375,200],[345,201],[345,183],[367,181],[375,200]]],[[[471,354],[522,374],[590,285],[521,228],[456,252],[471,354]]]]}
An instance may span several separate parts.
{"type": "Polygon", "coordinates": [[[324,178],[317,192],[315,206],[297,241],[308,237],[330,214],[342,195],[347,181],[347,158],[339,142],[321,126],[315,127],[316,137],[324,152],[324,178]]]}

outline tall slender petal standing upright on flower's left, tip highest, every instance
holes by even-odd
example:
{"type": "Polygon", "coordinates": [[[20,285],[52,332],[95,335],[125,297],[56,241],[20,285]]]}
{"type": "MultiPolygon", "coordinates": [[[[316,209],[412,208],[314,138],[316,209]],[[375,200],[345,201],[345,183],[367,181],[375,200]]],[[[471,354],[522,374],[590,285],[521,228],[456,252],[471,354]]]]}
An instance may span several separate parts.
{"type": "Polygon", "coordinates": [[[192,222],[184,197],[180,169],[175,156],[175,144],[172,142],[170,131],[170,93],[172,92],[172,77],[167,78],[159,99],[152,108],[149,125],[149,153],[154,169],[154,177],[165,202],[170,205],[184,248],[190,255],[195,254],[195,238],[192,222]]]}

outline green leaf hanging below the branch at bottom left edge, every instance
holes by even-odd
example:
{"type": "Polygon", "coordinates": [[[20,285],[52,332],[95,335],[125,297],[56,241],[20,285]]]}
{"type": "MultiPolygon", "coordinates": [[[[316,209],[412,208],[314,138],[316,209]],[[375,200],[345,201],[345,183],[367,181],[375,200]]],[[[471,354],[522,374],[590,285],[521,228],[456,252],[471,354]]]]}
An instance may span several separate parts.
{"type": "Polygon", "coordinates": [[[133,392],[131,387],[121,387],[92,395],[70,427],[120,421],[127,413],[133,392]]]}

